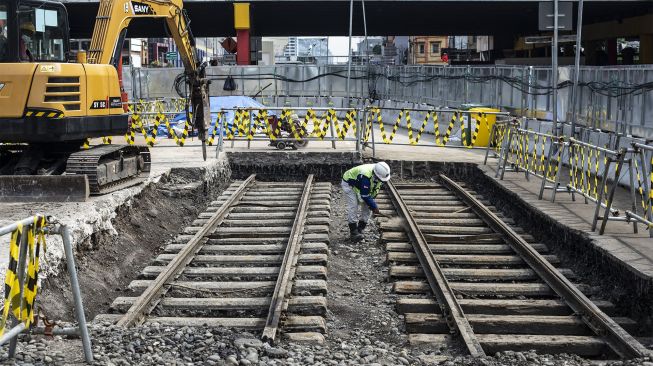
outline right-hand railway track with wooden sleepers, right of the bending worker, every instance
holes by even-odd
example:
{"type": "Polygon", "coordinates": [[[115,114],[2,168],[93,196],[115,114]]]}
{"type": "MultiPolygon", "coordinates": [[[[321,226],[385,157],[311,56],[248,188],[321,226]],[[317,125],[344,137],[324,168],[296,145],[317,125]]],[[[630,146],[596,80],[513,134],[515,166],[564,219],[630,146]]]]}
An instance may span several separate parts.
{"type": "Polygon", "coordinates": [[[615,306],[483,197],[446,176],[389,184],[379,207],[389,277],[413,344],[456,342],[472,356],[537,350],[643,357],[615,306]],[[591,297],[590,301],[588,298],[591,297]]]}

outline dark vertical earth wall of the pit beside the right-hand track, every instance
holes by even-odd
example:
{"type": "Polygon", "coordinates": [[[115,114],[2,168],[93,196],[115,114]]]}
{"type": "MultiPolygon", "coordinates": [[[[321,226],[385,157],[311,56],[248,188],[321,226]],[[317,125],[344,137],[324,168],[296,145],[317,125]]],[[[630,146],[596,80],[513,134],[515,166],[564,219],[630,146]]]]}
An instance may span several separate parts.
{"type": "Polygon", "coordinates": [[[468,163],[388,162],[402,179],[431,180],[442,172],[464,181],[512,218],[539,242],[556,254],[561,265],[571,268],[580,280],[601,288],[601,295],[614,303],[617,313],[640,325],[647,336],[653,332],[653,282],[639,277],[624,263],[609,258],[585,232],[571,229],[535,209],[514,192],[488,177],[478,166],[468,163]]]}

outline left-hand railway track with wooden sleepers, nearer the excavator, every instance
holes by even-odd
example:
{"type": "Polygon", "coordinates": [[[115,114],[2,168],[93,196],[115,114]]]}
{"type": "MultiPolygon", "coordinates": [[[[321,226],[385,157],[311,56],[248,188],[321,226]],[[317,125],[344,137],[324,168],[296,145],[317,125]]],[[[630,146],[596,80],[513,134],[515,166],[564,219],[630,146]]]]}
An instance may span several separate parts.
{"type": "Polygon", "coordinates": [[[312,175],[234,182],[96,320],[323,340],[330,191],[312,175]]]}

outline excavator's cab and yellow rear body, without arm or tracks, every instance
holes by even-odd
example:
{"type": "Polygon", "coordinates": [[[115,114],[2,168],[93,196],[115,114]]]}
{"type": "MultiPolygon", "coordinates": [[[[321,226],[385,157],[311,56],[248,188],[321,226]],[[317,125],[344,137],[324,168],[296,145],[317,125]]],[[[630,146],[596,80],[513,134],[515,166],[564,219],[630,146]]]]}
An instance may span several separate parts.
{"type": "Polygon", "coordinates": [[[63,4],[0,0],[0,27],[0,143],[80,146],[125,133],[115,67],[67,63],[63,4]]]}

